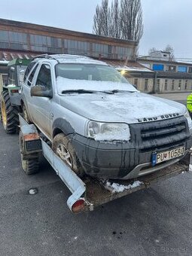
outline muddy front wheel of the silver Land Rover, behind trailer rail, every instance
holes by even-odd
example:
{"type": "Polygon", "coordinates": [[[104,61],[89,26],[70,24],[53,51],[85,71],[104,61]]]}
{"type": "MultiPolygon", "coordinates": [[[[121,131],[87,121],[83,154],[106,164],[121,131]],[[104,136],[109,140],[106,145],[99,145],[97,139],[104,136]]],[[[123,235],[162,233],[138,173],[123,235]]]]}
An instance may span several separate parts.
{"type": "Polygon", "coordinates": [[[75,153],[72,142],[63,134],[57,134],[53,139],[53,151],[79,176],[84,176],[84,169],[75,153]]]}

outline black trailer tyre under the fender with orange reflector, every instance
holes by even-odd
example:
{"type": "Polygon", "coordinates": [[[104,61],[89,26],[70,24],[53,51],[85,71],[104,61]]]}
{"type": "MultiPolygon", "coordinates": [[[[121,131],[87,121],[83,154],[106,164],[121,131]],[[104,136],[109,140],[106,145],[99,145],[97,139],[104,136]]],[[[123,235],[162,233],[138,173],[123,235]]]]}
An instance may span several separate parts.
{"type": "Polygon", "coordinates": [[[32,175],[37,172],[39,172],[39,155],[36,154],[35,156],[32,156],[31,159],[23,160],[23,136],[20,132],[19,134],[19,145],[20,145],[20,157],[21,157],[21,164],[23,171],[27,175],[32,175]]]}

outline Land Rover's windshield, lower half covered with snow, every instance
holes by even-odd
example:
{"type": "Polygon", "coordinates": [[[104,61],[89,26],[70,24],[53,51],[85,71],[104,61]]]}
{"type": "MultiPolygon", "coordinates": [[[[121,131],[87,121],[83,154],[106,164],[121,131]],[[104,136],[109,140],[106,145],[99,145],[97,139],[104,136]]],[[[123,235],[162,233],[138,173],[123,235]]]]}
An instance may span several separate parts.
{"type": "Polygon", "coordinates": [[[136,91],[116,69],[107,65],[62,63],[56,65],[58,92],[72,90],[136,91]]]}

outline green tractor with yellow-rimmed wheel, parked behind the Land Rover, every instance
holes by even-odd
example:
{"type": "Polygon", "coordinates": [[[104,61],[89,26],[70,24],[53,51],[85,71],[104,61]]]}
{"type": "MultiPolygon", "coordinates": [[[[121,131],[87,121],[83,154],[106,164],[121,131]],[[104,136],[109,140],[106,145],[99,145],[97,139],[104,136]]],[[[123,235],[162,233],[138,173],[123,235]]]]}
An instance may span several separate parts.
{"type": "Polygon", "coordinates": [[[8,62],[8,84],[1,87],[1,119],[6,133],[16,133],[19,124],[20,83],[30,59],[13,59],[8,62]]]}

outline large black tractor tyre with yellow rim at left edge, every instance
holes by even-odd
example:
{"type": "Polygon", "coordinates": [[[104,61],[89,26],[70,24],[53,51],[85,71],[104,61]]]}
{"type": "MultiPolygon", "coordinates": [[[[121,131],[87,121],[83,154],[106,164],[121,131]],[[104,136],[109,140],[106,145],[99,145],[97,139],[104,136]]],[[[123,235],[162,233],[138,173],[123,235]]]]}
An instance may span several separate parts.
{"type": "Polygon", "coordinates": [[[1,118],[6,133],[17,133],[19,124],[19,108],[11,105],[11,99],[7,90],[1,94],[1,118]]]}

